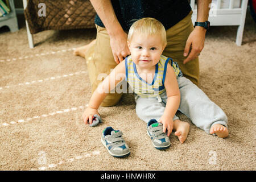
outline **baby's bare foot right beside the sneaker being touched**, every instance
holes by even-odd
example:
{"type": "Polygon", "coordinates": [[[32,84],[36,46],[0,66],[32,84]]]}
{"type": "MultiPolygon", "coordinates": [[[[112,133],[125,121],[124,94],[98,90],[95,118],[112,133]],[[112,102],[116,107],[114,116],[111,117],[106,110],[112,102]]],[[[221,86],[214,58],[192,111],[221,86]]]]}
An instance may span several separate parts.
{"type": "Polygon", "coordinates": [[[180,143],[184,143],[188,136],[189,124],[177,119],[174,121],[174,129],[176,130],[174,134],[179,138],[180,143]]]}

